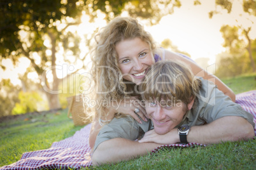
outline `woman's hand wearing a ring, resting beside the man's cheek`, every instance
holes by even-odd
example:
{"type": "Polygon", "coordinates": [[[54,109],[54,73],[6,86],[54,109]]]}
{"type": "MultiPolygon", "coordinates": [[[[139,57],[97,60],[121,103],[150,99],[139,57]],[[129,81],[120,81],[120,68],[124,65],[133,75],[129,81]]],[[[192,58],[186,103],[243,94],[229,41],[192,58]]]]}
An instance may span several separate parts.
{"type": "Polygon", "coordinates": [[[120,101],[113,101],[110,103],[110,106],[107,109],[111,115],[114,115],[115,113],[131,115],[131,117],[133,117],[137,122],[141,124],[142,122],[139,117],[141,117],[143,121],[148,121],[146,119],[148,118],[148,115],[146,114],[146,110],[143,107],[143,103],[141,103],[141,101],[134,96],[125,97],[120,101]],[[136,108],[139,109],[139,112],[135,112],[136,108]]]}

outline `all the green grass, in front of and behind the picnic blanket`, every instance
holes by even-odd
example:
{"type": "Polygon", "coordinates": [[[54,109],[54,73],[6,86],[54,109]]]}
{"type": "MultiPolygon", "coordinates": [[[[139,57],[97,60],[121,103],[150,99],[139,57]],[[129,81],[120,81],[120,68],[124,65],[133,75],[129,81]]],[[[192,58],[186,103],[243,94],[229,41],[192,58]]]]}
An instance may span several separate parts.
{"type": "MultiPolygon", "coordinates": [[[[236,94],[256,89],[256,74],[223,79],[236,94]]],[[[67,110],[60,114],[24,115],[0,123],[0,167],[17,162],[22,153],[49,148],[72,136],[75,127],[67,110]]],[[[225,142],[207,147],[164,148],[157,154],[104,165],[96,169],[255,169],[256,140],[225,142]]]]}

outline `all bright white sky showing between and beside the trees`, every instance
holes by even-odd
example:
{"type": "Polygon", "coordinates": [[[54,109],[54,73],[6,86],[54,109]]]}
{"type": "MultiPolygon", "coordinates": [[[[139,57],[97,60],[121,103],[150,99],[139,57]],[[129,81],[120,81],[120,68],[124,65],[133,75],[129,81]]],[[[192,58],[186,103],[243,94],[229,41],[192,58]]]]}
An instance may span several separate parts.
{"type": "MultiPolygon", "coordinates": [[[[241,2],[241,1],[240,1],[241,2]]],[[[209,64],[215,63],[215,56],[222,53],[225,49],[222,47],[224,40],[222,34],[219,32],[220,27],[225,24],[238,25],[242,24],[244,27],[252,26],[250,37],[256,38],[256,21],[252,25],[246,13],[243,13],[242,4],[239,0],[234,0],[232,13],[227,15],[225,11],[222,15],[214,15],[212,19],[208,18],[209,11],[215,10],[215,0],[202,1],[201,5],[194,6],[193,1],[181,0],[181,8],[176,8],[172,15],[167,15],[160,20],[158,25],[153,27],[146,27],[159,44],[164,39],[169,38],[175,46],[181,51],[186,51],[196,60],[197,58],[210,58],[209,64]],[[242,15],[240,15],[242,13],[242,15]],[[238,22],[236,22],[238,20],[238,22]],[[254,34],[254,35],[253,35],[254,34]]],[[[255,20],[255,17],[253,18],[255,20]]],[[[92,32],[97,27],[104,27],[106,22],[103,18],[99,18],[97,23],[88,23],[89,18],[83,16],[83,23],[78,27],[78,34],[82,37],[81,50],[83,56],[86,51],[84,49],[84,42],[86,41],[83,34],[92,32]]],[[[58,54],[58,63],[61,63],[61,55],[58,54]]],[[[20,84],[17,80],[18,74],[23,74],[25,68],[28,67],[29,60],[20,59],[22,67],[15,68],[9,59],[3,60],[2,64],[7,67],[4,71],[0,68],[0,81],[11,77],[13,84],[20,84]]],[[[35,77],[35,73],[28,76],[35,77]]]]}

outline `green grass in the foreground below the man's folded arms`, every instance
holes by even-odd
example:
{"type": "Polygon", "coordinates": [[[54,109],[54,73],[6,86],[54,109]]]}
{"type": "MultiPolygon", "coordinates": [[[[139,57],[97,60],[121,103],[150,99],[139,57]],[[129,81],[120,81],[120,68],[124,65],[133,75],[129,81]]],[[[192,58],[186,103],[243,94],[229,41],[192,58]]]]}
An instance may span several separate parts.
{"type": "Polygon", "coordinates": [[[163,148],[157,154],[99,169],[255,169],[255,140],[207,147],[163,148]]]}

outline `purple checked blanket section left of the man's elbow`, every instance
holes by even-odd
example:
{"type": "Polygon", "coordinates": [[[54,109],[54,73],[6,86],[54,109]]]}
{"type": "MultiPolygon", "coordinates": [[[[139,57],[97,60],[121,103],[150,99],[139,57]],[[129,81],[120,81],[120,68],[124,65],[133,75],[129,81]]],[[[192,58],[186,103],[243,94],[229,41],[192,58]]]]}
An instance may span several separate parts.
{"type": "Polygon", "coordinates": [[[91,124],[77,131],[72,137],[54,142],[46,150],[26,152],[22,158],[0,169],[80,169],[92,166],[90,159],[89,134],[91,124]]]}

